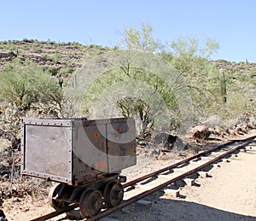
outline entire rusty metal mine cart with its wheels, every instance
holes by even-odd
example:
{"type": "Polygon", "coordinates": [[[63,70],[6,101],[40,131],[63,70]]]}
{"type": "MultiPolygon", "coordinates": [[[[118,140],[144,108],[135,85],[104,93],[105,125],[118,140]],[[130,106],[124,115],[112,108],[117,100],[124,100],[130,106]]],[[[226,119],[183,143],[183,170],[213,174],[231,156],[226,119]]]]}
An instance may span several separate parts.
{"type": "Polygon", "coordinates": [[[55,181],[50,205],[79,202],[84,217],[123,199],[122,169],[136,165],[136,128],[131,118],[23,119],[21,174],[55,181]]]}

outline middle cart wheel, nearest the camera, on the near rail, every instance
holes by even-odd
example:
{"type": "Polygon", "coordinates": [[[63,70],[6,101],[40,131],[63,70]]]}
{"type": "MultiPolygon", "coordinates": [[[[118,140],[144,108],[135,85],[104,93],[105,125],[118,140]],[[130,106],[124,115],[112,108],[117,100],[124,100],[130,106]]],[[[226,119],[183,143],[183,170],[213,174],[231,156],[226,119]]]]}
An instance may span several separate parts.
{"type": "Polygon", "coordinates": [[[86,217],[96,216],[102,209],[102,194],[98,190],[85,189],[80,197],[80,212],[86,217]]]}

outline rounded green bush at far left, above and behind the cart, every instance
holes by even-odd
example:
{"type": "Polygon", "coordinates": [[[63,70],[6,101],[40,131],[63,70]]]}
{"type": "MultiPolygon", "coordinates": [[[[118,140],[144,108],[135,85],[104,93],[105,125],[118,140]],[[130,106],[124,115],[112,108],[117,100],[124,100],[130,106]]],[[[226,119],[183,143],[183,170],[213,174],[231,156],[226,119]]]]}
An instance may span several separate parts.
{"type": "Polygon", "coordinates": [[[42,67],[14,60],[0,72],[0,94],[20,110],[31,108],[37,102],[61,102],[61,89],[57,81],[44,73],[42,67]]]}

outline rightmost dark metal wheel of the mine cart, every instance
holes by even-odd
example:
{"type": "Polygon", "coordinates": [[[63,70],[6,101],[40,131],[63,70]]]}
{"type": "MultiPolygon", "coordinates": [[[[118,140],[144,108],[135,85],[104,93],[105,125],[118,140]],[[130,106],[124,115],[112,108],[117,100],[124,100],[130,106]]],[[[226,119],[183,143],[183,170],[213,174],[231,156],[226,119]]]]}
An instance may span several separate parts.
{"type": "Polygon", "coordinates": [[[124,189],[121,183],[110,181],[107,183],[103,192],[104,202],[106,207],[119,205],[124,197],[124,189]]]}

